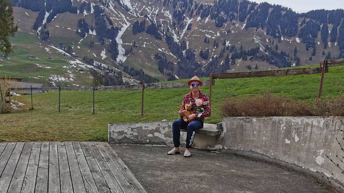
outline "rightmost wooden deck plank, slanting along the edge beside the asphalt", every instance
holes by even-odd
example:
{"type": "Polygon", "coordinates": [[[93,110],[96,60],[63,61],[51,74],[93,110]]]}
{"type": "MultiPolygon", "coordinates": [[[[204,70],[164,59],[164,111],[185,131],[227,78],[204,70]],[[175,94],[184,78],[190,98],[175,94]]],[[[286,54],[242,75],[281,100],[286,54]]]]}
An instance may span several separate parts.
{"type": "Polygon", "coordinates": [[[137,192],[141,193],[147,193],[145,188],[141,185],[139,180],[135,177],[135,175],[126,167],[124,162],[120,159],[120,157],[117,155],[117,153],[112,149],[112,147],[108,143],[100,143],[103,145],[103,147],[107,150],[111,158],[115,161],[115,163],[118,165],[119,169],[122,171],[126,179],[129,181],[129,183],[135,188],[137,192]]]}

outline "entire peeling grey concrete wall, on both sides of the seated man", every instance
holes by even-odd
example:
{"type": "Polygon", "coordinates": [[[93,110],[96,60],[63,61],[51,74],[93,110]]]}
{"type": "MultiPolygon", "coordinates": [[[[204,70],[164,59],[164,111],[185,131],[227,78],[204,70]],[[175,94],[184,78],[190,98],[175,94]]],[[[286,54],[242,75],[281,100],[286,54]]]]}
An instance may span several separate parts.
{"type": "MultiPolygon", "coordinates": [[[[109,124],[108,142],[173,146],[172,123],[109,124]]],[[[344,150],[338,144],[344,147],[344,117],[227,117],[222,130],[219,137],[196,134],[193,147],[242,155],[258,153],[260,159],[271,158],[344,187],[344,163],[340,162],[344,161],[344,150]]],[[[185,141],[186,133],[182,132],[181,147],[185,141]]]]}

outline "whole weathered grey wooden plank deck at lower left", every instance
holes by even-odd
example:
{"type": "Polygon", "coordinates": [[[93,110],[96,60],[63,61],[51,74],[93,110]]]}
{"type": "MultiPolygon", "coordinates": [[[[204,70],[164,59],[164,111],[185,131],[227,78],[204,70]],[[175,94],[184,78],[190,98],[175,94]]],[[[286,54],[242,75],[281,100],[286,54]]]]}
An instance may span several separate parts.
{"type": "Polygon", "coordinates": [[[0,143],[0,192],[147,192],[108,143],[0,143]]]}

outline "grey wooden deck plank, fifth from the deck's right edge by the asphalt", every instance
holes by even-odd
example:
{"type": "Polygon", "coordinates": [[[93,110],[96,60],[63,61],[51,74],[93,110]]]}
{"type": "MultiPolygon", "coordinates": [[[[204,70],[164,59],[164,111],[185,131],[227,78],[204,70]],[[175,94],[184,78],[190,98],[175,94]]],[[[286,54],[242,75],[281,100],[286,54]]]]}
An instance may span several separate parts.
{"type": "Polygon", "coordinates": [[[93,179],[91,170],[89,168],[89,165],[87,164],[85,156],[83,155],[79,142],[73,142],[72,144],[74,147],[76,160],[79,164],[79,168],[81,171],[81,176],[83,179],[83,183],[85,185],[86,192],[98,192],[96,182],[93,179]]]}

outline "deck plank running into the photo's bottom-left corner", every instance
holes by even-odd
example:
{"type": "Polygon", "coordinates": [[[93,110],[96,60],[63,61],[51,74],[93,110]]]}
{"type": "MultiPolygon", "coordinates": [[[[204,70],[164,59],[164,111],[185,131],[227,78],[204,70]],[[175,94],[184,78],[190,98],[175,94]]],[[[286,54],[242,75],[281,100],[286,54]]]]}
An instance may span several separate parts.
{"type": "Polygon", "coordinates": [[[0,192],[6,192],[8,190],[23,147],[24,143],[16,144],[16,147],[14,148],[7,165],[0,176],[0,192]]]}

